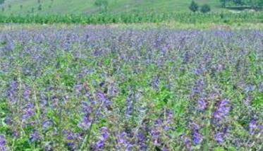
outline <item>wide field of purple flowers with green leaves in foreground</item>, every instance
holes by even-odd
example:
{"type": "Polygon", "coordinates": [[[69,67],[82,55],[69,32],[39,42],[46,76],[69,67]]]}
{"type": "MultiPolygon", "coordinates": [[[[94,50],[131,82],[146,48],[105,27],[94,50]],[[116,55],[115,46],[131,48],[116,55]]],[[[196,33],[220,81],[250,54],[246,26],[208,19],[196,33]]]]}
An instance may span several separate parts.
{"type": "Polygon", "coordinates": [[[0,32],[0,150],[263,150],[262,30],[0,32]]]}

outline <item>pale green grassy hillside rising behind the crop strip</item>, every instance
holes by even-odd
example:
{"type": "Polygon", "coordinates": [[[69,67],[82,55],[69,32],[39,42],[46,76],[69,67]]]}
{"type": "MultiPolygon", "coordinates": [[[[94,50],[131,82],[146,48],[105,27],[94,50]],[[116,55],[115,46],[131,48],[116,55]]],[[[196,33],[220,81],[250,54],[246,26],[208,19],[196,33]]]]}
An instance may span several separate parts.
{"type": "MultiPolygon", "coordinates": [[[[123,12],[178,12],[188,11],[192,0],[107,0],[107,13],[123,12]]],[[[219,11],[219,0],[196,0],[199,4],[209,4],[212,11],[219,11]]],[[[6,0],[1,7],[4,15],[26,14],[67,14],[100,13],[102,8],[94,5],[95,0],[6,0]],[[41,5],[41,10],[39,10],[41,5]]]]}

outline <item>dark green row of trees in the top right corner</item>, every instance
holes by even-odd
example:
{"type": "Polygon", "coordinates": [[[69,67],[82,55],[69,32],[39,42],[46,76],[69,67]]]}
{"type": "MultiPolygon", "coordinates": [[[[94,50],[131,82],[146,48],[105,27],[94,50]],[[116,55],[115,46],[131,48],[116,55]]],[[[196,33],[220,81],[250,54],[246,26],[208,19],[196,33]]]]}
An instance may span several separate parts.
{"type": "Polygon", "coordinates": [[[221,6],[248,6],[250,8],[263,8],[263,0],[220,0],[221,6]]]}

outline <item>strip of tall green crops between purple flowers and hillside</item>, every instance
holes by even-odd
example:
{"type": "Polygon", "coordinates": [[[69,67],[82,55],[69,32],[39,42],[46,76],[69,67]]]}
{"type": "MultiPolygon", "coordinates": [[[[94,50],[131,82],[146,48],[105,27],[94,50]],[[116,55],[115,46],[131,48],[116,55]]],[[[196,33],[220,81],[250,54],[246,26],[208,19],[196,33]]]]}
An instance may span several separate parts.
{"type": "Polygon", "coordinates": [[[0,16],[0,23],[263,23],[263,13],[121,13],[66,16],[0,16]]]}

